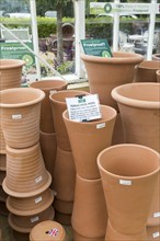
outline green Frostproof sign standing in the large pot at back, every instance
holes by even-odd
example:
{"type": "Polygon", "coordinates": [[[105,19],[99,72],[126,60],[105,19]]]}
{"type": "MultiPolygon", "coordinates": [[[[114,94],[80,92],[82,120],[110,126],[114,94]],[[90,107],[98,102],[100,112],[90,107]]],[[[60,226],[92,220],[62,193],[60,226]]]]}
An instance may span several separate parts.
{"type": "Polygon", "coordinates": [[[81,39],[81,44],[87,55],[112,57],[107,39],[81,39]]]}

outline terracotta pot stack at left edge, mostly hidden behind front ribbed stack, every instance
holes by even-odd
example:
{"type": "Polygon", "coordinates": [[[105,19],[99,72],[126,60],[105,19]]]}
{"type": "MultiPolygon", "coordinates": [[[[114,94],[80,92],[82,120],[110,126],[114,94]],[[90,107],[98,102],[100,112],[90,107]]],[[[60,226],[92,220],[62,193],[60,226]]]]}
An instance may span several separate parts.
{"type": "MultiPolygon", "coordinates": [[[[1,59],[0,60],[0,91],[21,87],[22,67],[24,61],[19,59],[1,59]]],[[[1,119],[1,112],[0,112],[1,119]]],[[[1,128],[0,122],[0,211],[1,214],[8,214],[5,207],[7,194],[2,190],[2,181],[5,176],[5,141],[1,128]]]]}

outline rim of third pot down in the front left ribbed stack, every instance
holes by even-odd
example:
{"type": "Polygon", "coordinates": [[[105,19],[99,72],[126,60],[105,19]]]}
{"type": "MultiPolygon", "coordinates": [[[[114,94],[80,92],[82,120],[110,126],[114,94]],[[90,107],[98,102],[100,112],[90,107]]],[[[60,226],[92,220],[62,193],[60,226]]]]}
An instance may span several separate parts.
{"type": "MultiPolygon", "coordinates": [[[[44,191],[45,192],[45,191],[44,191]]],[[[44,193],[44,192],[42,192],[42,193],[44,193]]],[[[33,196],[32,198],[35,198],[35,197],[37,197],[37,196],[41,196],[42,195],[42,193],[39,193],[38,195],[36,195],[36,196],[33,196]]],[[[45,209],[47,209],[50,205],[52,205],[52,203],[53,203],[53,200],[54,200],[54,192],[50,190],[50,188],[48,188],[48,193],[49,193],[49,198],[46,200],[46,203],[44,203],[44,205],[43,206],[41,206],[41,207],[36,207],[36,205],[35,205],[35,208],[33,208],[33,209],[30,209],[30,210],[19,210],[19,209],[16,209],[16,208],[14,208],[13,206],[12,206],[12,202],[11,202],[11,198],[12,198],[12,196],[8,196],[8,198],[7,198],[7,207],[8,207],[8,209],[12,213],[12,214],[14,214],[14,215],[20,215],[20,216],[31,216],[31,215],[36,215],[36,214],[39,214],[39,213],[42,213],[42,211],[44,211],[45,209]]],[[[18,198],[18,197],[16,197],[18,198]]],[[[27,198],[27,197],[26,197],[27,198]]]]}

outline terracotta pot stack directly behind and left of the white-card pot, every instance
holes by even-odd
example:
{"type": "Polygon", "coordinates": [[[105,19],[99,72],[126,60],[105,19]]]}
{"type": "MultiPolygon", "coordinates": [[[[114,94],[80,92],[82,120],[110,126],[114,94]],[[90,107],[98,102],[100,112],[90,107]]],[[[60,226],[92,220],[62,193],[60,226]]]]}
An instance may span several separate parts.
{"type": "Polygon", "coordinates": [[[65,90],[50,94],[57,138],[57,156],[54,171],[54,190],[56,192],[54,208],[56,210],[56,220],[62,225],[70,225],[76,183],[75,162],[62,113],[67,110],[66,97],[85,94],[89,93],[77,90],[65,90]]]}

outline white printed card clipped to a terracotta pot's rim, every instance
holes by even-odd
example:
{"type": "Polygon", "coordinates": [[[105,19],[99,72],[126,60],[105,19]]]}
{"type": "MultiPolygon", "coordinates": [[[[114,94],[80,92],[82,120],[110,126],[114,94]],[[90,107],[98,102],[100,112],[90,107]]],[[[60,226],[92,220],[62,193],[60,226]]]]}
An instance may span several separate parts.
{"type": "Polygon", "coordinates": [[[69,119],[90,122],[102,117],[98,94],[66,97],[69,119]]]}

